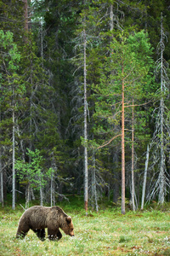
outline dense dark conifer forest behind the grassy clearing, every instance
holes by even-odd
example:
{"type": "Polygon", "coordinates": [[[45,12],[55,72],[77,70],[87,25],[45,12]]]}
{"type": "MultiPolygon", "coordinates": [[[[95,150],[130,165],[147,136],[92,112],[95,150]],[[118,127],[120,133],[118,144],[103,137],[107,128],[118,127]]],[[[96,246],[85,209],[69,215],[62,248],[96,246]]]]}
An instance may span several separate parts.
{"type": "Polygon", "coordinates": [[[170,201],[167,0],[0,0],[0,204],[170,201]]]}

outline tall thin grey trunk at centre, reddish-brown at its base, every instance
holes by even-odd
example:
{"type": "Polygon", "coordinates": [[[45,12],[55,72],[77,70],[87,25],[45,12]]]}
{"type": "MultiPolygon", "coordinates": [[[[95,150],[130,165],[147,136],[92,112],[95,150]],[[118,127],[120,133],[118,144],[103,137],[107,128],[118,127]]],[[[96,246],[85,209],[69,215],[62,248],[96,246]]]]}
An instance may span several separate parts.
{"type": "Polygon", "coordinates": [[[88,148],[87,148],[87,140],[88,140],[88,127],[87,127],[87,69],[86,69],[86,31],[84,29],[84,204],[86,215],[88,215],[88,148]]]}

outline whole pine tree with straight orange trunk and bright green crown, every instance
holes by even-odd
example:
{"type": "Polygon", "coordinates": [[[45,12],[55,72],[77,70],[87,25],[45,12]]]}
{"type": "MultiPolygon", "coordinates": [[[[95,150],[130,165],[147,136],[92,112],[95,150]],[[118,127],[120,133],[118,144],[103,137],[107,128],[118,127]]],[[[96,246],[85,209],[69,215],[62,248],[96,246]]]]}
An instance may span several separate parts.
{"type": "MultiPolygon", "coordinates": [[[[125,134],[124,124],[128,108],[143,99],[142,83],[147,79],[153,61],[150,58],[150,44],[144,32],[135,33],[128,38],[122,33],[120,38],[113,38],[111,43],[111,56],[108,57],[105,73],[102,72],[100,84],[94,87],[99,95],[96,102],[94,116],[103,119],[96,132],[108,133],[113,137],[103,143],[99,148],[107,146],[117,137],[122,137],[122,213],[125,213],[125,134]],[[142,51],[141,51],[142,49],[142,51]],[[145,51],[145,55],[144,55],[145,51]],[[113,71],[113,72],[111,72],[113,71]],[[120,115],[120,113],[122,113],[120,115]],[[117,124],[121,121],[122,131],[117,130],[117,124]],[[114,130],[113,130],[114,127],[114,130]]],[[[149,79],[150,81],[150,79],[149,79]]],[[[142,104],[142,102],[141,102],[142,104]]]]}

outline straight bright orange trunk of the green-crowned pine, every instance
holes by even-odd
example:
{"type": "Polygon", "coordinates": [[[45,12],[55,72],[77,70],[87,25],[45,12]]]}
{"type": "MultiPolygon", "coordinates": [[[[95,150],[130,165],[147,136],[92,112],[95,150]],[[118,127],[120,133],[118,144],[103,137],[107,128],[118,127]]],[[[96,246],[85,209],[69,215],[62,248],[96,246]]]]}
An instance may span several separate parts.
{"type": "MultiPolygon", "coordinates": [[[[123,77],[123,66],[122,66],[123,77]]],[[[125,214],[125,135],[124,135],[124,80],[122,80],[122,214],[125,214]]]]}

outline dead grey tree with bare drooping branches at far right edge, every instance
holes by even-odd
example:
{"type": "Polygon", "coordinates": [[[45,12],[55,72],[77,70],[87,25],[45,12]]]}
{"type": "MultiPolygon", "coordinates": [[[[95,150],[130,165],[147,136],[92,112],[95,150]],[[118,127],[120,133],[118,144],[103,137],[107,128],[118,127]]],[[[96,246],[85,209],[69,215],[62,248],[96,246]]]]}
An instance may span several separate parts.
{"type": "Polygon", "coordinates": [[[167,178],[167,168],[165,164],[167,145],[169,144],[170,126],[168,110],[164,103],[164,96],[166,96],[167,88],[169,85],[169,78],[167,76],[168,63],[163,58],[163,52],[165,49],[164,38],[166,38],[163,32],[162,13],[161,13],[161,40],[157,46],[158,55],[160,58],[156,61],[156,73],[161,75],[161,100],[160,108],[156,117],[156,131],[154,132],[150,148],[155,147],[152,150],[153,166],[157,167],[159,176],[154,179],[154,183],[151,187],[152,191],[149,196],[149,201],[156,195],[158,195],[158,202],[163,204],[165,201],[165,195],[167,193],[166,186],[170,186],[167,178]],[[165,118],[166,117],[166,118],[165,118]]]}

